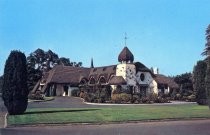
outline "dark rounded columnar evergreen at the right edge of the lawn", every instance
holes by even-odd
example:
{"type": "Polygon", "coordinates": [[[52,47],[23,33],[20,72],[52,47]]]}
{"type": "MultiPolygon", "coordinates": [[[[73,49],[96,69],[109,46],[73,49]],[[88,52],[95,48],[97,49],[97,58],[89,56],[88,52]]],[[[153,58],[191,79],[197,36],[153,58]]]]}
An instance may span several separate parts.
{"type": "Polygon", "coordinates": [[[205,88],[206,67],[205,61],[198,61],[193,70],[193,88],[196,92],[196,100],[199,105],[207,104],[205,88]]]}

